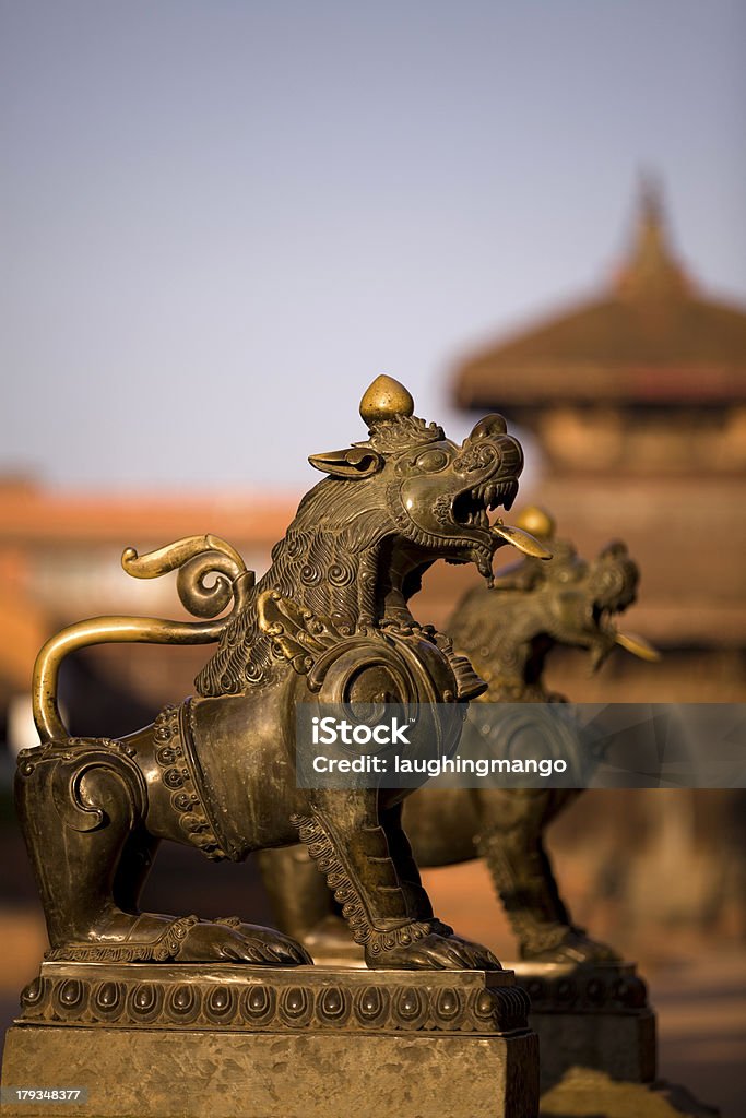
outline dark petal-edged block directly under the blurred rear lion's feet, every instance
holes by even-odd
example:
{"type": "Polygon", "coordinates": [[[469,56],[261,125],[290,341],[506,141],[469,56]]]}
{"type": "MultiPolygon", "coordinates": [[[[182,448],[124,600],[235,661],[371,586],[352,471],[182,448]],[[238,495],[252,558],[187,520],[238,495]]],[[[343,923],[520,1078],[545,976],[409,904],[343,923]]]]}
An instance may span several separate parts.
{"type": "Polygon", "coordinates": [[[573,1068],[632,1083],[655,1078],[655,1016],[632,964],[511,966],[531,998],[542,1093],[573,1068]]]}

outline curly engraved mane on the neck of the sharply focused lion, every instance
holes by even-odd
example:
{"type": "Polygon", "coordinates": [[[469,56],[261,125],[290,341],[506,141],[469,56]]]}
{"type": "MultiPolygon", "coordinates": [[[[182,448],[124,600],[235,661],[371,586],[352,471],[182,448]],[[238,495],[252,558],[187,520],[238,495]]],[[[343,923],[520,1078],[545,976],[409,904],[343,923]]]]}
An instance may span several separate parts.
{"type": "Polygon", "coordinates": [[[274,674],[277,660],[259,629],[256,610],[264,590],[277,590],[341,629],[353,632],[361,622],[372,623],[379,552],[391,527],[384,493],[375,485],[338,479],[319,482],[301,501],[284,538],[272,549],[272,566],[197,675],[198,693],[238,694],[274,674]]]}

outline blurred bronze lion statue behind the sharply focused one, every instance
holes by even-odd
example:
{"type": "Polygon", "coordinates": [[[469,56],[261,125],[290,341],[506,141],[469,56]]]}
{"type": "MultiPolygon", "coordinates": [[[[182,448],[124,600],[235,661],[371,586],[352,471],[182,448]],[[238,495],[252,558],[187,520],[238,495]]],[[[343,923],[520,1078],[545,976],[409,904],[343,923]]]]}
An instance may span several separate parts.
{"type": "MultiPolygon", "coordinates": [[[[614,622],[634,601],[639,582],[624,543],[610,543],[586,562],[573,543],[555,539],[554,522],[542,510],[527,509],[516,524],[546,541],[553,558],[527,557],[495,578],[493,588],[474,587],[446,625],[454,647],[489,684],[478,702],[563,702],[544,682],[547,657],[558,646],[586,650],[594,670],[617,645],[657,659],[645,641],[620,633],[614,622]]],[[[539,711],[535,718],[538,722],[539,711]]],[[[547,719],[546,733],[553,732],[547,719]]],[[[616,959],[612,948],[573,922],[544,844],[546,827],[579,794],[573,788],[426,788],[406,800],[403,823],[421,866],[485,859],[522,959],[616,959]]],[[[302,850],[267,851],[259,865],[281,928],[292,930],[318,958],[357,954],[302,850]]]]}

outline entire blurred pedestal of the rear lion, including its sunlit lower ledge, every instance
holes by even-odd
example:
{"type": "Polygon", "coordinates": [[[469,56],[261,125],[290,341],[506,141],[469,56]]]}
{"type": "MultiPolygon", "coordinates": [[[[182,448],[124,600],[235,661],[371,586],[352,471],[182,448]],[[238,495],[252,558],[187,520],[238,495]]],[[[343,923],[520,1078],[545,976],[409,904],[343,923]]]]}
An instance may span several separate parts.
{"type": "Polygon", "coordinates": [[[541,1116],[716,1118],[657,1080],[655,1014],[632,963],[514,963],[539,1038],[541,1116]]]}

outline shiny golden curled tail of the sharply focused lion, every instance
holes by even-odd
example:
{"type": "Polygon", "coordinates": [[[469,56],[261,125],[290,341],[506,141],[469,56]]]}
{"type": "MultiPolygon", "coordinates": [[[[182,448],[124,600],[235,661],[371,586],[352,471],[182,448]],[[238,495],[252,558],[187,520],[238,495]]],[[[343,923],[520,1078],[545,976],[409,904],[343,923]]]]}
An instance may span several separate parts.
{"type": "Polygon", "coordinates": [[[215,618],[232,599],[233,609],[217,620],[177,622],[114,615],[92,617],[62,629],[47,641],[34,665],[34,721],[41,741],[68,736],[57,703],[57,682],[59,665],[69,653],[94,644],[214,644],[244,608],[254,586],[254,572],[246,570],[235,548],[217,536],[188,536],[144,556],[126,548],[122,567],[133,578],[159,578],[178,570],[179,598],[195,617],[215,618]],[[215,579],[213,586],[206,586],[208,577],[215,579]]]}

